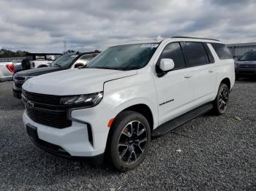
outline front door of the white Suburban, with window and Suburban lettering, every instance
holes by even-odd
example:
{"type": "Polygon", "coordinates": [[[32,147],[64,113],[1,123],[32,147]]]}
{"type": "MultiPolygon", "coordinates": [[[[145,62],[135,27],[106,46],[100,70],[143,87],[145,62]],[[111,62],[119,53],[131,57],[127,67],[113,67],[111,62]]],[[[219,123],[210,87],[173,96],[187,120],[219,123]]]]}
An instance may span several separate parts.
{"type": "Polygon", "coordinates": [[[193,107],[192,69],[187,69],[179,42],[167,44],[156,64],[159,74],[159,63],[162,58],[171,58],[174,69],[162,77],[155,77],[157,89],[159,125],[173,119],[193,107]]]}

